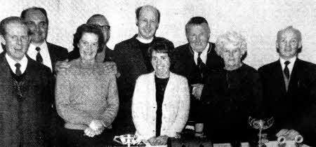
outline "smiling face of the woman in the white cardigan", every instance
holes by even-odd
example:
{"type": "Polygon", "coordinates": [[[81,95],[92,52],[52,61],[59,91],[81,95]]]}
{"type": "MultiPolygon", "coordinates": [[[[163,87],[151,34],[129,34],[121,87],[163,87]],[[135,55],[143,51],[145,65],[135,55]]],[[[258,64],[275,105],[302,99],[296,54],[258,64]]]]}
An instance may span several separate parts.
{"type": "Polygon", "coordinates": [[[152,51],[152,67],[158,78],[168,78],[170,59],[167,53],[152,51]]]}

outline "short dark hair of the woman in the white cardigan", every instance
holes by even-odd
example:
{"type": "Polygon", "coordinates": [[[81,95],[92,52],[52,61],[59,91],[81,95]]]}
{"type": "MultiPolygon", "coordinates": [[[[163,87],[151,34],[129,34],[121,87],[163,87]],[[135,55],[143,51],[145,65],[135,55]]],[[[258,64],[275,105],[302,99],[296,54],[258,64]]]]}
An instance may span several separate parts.
{"type": "Polygon", "coordinates": [[[152,52],[154,51],[158,53],[167,53],[170,60],[173,57],[173,47],[169,45],[169,41],[166,38],[156,38],[156,40],[150,44],[147,52],[150,59],[152,59],[152,52]]]}

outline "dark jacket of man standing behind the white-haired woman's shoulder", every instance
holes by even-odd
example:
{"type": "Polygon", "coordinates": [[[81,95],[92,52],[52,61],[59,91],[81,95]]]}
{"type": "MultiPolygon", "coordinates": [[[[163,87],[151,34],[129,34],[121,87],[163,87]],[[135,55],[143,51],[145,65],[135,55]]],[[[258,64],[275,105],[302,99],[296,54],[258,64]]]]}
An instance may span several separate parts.
{"type": "MultiPolygon", "coordinates": [[[[206,67],[202,71],[203,75],[209,74],[213,69],[223,69],[224,62],[223,59],[217,55],[215,51],[215,44],[209,43],[209,49],[206,57],[206,67]]],[[[180,45],[176,48],[173,55],[173,66],[171,66],[171,71],[185,76],[189,81],[189,84],[202,83],[202,77],[199,75],[199,69],[197,64],[195,64],[194,52],[190,48],[190,44],[180,45]]]]}

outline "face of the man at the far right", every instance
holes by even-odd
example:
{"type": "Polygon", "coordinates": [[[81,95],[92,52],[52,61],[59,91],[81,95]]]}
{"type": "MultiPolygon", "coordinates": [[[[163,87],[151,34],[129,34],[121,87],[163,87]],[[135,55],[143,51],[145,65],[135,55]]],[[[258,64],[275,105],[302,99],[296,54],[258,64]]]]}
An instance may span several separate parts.
{"type": "Polygon", "coordinates": [[[281,34],[277,46],[279,48],[279,57],[290,59],[297,55],[298,45],[300,42],[293,31],[287,30],[281,34]]]}

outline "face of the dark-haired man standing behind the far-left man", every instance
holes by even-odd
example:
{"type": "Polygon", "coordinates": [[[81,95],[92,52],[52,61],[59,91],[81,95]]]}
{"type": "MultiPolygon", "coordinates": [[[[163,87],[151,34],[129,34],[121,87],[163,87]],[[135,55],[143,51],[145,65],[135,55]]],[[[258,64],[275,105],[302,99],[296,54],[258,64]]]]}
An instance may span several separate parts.
{"type": "Polygon", "coordinates": [[[47,36],[48,22],[46,17],[39,10],[29,10],[25,15],[25,22],[31,31],[32,43],[43,43],[47,36]]]}

